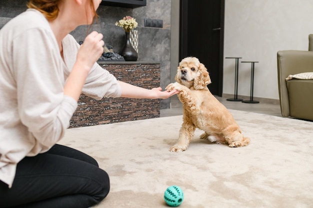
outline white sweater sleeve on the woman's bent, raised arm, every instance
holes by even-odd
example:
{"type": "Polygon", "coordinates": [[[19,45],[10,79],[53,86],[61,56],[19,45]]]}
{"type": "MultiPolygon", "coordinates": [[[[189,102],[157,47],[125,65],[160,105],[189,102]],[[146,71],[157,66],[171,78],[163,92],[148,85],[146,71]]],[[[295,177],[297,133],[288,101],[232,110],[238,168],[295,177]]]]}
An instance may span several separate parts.
{"type": "Polygon", "coordinates": [[[31,28],[12,42],[20,121],[39,144],[51,147],[62,138],[77,107],[63,94],[65,65],[58,46],[52,31],[44,28],[31,28]]]}

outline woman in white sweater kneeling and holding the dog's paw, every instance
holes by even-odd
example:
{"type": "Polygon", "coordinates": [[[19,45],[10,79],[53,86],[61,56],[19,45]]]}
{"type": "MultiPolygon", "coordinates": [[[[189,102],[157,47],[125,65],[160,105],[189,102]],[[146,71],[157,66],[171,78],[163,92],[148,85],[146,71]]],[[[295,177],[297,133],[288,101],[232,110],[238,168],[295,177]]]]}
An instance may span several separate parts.
{"type": "Polygon", "coordinates": [[[79,46],[68,33],[91,24],[101,0],[29,0],[0,30],[0,208],[88,208],[109,192],[97,162],[56,145],[81,92],[168,98],[176,91],[117,81],[96,60],[102,34],[79,46]]]}

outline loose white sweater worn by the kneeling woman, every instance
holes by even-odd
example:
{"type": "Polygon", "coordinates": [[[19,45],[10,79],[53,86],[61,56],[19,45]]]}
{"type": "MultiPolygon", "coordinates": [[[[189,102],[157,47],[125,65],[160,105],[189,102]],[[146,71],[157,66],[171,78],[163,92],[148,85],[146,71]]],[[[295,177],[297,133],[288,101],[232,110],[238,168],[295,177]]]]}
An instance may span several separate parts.
{"type": "MultiPolygon", "coordinates": [[[[0,180],[12,186],[16,164],[46,152],[59,141],[77,103],[63,87],[79,44],[62,40],[64,61],[45,17],[27,9],[0,30],[0,180]]],[[[93,65],[83,93],[96,99],[119,97],[115,77],[93,65]]]]}

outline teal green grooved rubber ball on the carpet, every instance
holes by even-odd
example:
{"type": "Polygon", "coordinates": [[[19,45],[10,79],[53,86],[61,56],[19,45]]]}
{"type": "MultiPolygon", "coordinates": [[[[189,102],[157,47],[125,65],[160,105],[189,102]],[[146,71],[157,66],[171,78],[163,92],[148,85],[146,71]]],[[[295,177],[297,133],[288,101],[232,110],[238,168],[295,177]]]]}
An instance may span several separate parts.
{"type": "Polygon", "coordinates": [[[183,201],[183,192],[178,186],[170,186],[164,192],[164,200],[170,207],[178,207],[183,201]]]}

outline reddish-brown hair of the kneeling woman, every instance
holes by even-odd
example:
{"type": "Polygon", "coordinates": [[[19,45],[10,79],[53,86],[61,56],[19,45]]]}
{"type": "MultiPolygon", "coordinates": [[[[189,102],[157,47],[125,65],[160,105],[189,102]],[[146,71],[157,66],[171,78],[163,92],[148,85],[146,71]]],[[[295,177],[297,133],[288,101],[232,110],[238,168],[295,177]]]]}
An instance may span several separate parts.
{"type": "MultiPolygon", "coordinates": [[[[53,20],[58,15],[59,9],[57,5],[60,1],[62,0],[29,0],[27,3],[27,7],[35,8],[40,11],[45,16],[45,18],[47,18],[48,20],[53,20]]],[[[90,0],[90,6],[94,13],[93,19],[96,19],[97,21],[98,15],[94,10],[93,0],[90,0]]]]}

